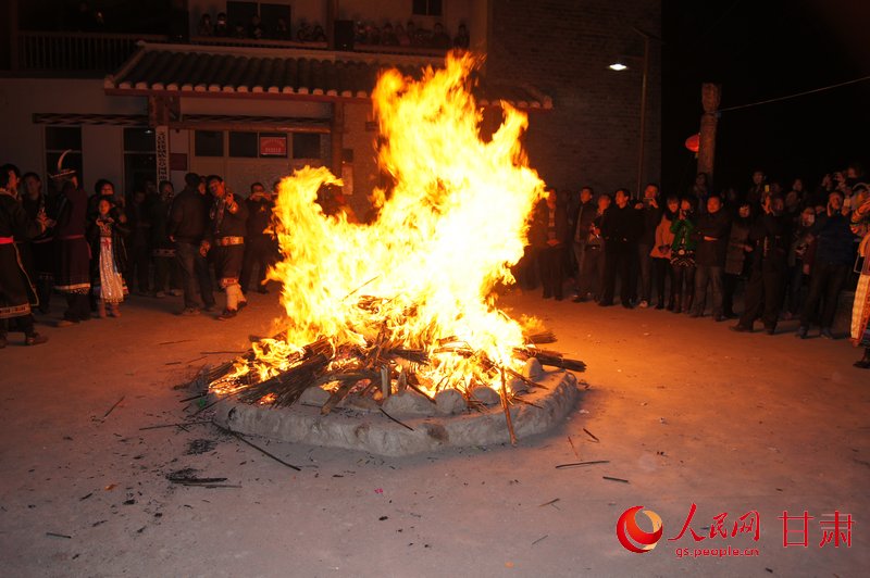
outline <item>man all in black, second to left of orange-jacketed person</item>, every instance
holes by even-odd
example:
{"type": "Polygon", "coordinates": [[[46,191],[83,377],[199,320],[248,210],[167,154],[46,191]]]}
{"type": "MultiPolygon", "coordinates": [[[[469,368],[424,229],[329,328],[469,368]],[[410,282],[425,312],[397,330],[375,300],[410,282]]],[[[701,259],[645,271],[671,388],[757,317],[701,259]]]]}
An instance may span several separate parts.
{"type": "Polygon", "coordinates": [[[598,304],[602,307],[613,304],[617,274],[619,274],[622,306],[632,309],[630,266],[637,250],[639,224],[637,211],[629,206],[626,189],[618,189],[614,200],[616,204],[610,205],[601,221],[601,237],[605,240],[605,288],[598,304]]]}

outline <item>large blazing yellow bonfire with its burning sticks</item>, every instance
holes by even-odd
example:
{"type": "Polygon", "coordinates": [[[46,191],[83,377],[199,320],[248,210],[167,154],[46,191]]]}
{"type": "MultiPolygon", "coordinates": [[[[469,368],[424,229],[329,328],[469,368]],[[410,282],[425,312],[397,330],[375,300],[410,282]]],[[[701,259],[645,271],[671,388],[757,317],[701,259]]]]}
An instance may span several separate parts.
{"type": "Polygon", "coordinates": [[[472,389],[488,386],[507,403],[506,376],[521,378],[540,352],[495,306],[494,288],[513,282],[544,183],[521,147],[524,114],[502,104],[501,126],[481,138],[475,65],[449,56],[419,81],[381,75],[378,163],[394,186],[375,190],[374,223],[324,215],[318,192],[341,185],[326,168],[281,183],[274,230],[284,261],[270,278],[283,284],[283,331],[232,370],[212,372],[212,391],[286,405],[320,386],[332,392],[328,412],[350,392],[380,400],[455,388],[472,404],[472,389]]]}

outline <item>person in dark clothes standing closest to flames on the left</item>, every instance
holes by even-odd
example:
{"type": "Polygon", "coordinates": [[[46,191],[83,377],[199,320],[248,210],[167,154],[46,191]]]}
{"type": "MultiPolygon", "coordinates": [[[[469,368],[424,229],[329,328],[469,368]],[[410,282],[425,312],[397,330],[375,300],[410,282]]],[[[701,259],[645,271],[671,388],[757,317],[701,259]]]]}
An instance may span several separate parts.
{"type": "Polygon", "coordinates": [[[272,264],[273,240],[272,235],[265,233],[272,219],[275,203],[265,192],[262,183],[251,185],[251,194],[245,199],[248,205],[248,235],[245,239],[245,259],[241,263],[239,285],[241,291],[250,290],[250,280],[257,269],[257,292],[268,293],[265,288],[265,272],[272,264]]]}

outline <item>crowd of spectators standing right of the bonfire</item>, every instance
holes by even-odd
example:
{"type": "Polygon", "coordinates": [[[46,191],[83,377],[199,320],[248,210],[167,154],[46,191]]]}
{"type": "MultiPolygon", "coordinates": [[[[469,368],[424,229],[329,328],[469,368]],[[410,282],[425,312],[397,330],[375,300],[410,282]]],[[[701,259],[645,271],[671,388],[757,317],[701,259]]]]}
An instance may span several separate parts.
{"type": "MultiPolygon", "coordinates": [[[[684,194],[662,196],[655,184],[639,199],[626,189],[597,198],[591,187],[561,196],[550,189],[532,216],[515,276],[526,290],[539,279],[544,299],[562,300],[569,286],[574,302],[611,306],[619,289],[626,309],[734,318],[738,332],[760,321],[768,335],[781,319],[798,318],[798,338],[817,326],[835,339],[837,300],[855,287],[856,257],[867,250],[868,241],[861,251],[859,243],[870,226],[868,181],[853,164],[812,191],[799,178],[787,189],[768,181],[762,171],[747,190],[722,194],[709,192],[704,174],[684,194]]],[[[859,366],[870,366],[868,352],[859,366]]]]}

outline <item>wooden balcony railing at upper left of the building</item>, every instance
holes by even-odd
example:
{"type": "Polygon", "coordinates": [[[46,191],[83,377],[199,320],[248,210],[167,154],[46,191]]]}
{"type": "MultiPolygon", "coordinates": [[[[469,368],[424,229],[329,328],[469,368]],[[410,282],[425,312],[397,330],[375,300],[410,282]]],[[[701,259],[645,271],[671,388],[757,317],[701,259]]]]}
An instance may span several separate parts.
{"type": "Polygon", "coordinates": [[[137,49],[138,40],[165,42],[166,36],[89,33],[17,33],[13,65],[20,71],[110,73],[137,49]]]}

